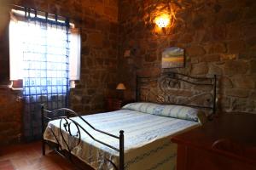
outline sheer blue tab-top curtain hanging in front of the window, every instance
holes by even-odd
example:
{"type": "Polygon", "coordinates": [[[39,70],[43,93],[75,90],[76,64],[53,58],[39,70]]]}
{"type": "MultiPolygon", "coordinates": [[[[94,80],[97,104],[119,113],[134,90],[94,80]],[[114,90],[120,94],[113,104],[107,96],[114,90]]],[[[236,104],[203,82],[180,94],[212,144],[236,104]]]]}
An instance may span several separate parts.
{"type": "Polygon", "coordinates": [[[69,40],[67,23],[39,17],[19,22],[23,51],[24,137],[40,139],[40,105],[67,107],[69,40]]]}

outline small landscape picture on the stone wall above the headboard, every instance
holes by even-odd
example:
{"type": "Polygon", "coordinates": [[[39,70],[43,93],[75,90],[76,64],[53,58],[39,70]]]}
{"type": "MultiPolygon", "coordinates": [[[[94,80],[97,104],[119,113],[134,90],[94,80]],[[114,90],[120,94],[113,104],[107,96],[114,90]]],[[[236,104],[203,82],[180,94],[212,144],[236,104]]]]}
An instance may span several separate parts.
{"type": "Polygon", "coordinates": [[[184,49],[183,48],[166,48],[162,52],[162,68],[183,68],[185,66],[184,49]]]}

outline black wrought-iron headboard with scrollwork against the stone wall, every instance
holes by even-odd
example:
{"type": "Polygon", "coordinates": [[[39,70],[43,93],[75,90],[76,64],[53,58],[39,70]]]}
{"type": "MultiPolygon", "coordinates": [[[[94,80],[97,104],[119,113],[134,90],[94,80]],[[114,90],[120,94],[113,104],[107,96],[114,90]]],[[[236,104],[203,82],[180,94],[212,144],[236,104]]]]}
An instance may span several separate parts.
{"type": "MultiPolygon", "coordinates": [[[[214,115],[216,113],[216,83],[216,75],[214,75],[213,77],[190,77],[188,75],[172,71],[161,73],[160,76],[156,77],[137,76],[136,100],[151,101],[147,99],[151,95],[155,97],[154,102],[156,103],[166,105],[186,105],[190,107],[212,110],[212,115],[214,115]],[[189,84],[190,88],[185,84],[189,84]],[[207,94],[211,98],[205,99],[207,100],[207,103],[209,105],[190,105],[189,103],[193,103],[193,101],[185,103],[173,102],[172,99],[174,99],[175,97],[173,97],[172,93],[176,92],[176,94],[178,94],[179,92],[182,92],[178,89],[183,89],[183,91],[191,92],[191,94],[193,94],[193,92],[196,92],[197,94],[195,93],[194,96],[190,96],[191,99],[195,99],[196,95],[201,96],[202,94],[207,94]],[[143,90],[144,99],[142,99],[143,90]],[[198,94],[198,92],[200,91],[201,93],[198,94]]],[[[187,96],[187,98],[189,99],[189,96],[187,96]]]]}

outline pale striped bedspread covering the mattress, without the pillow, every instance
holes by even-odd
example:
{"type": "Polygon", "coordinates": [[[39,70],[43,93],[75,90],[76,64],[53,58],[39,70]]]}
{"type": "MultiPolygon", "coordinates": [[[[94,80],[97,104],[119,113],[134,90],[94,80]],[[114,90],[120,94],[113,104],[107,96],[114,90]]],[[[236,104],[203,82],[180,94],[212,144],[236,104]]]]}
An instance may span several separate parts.
{"type": "MultiPolygon", "coordinates": [[[[120,110],[95,115],[83,116],[90,124],[102,131],[119,136],[119,130],[125,131],[125,170],[170,170],[176,169],[177,145],[171,142],[174,134],[197,127],[198,122],[191,122],[165,116],[155,116],[138,111],[120,110]]],[[[90,134],[107,144],[119,148],[119,140],[105,134],[97,133],[82,122],[79,117],[74,117],[90,134]]],[[[63,122],[64,123],[64,122],[63,122]]],[[[51,130],[58,136],[62,147],[65,144],[59,131],[60,120],[49,122],[44,132],[44,139],[55,142],[51,130]]],[[[73,134],[77,128],[72,126],[73,134]]],[[[64,129],[61,126],[61,129],[64,129]]],[[[105,160],[107,157],[119,165],[119,152],[99,144],[81,131],[82,142],[73,148],[73,155],[90,164],[95,169],[114,169],[105,160]]],[[[78,141],[75,137],[68,138],[70,145],[78,141]]]]}

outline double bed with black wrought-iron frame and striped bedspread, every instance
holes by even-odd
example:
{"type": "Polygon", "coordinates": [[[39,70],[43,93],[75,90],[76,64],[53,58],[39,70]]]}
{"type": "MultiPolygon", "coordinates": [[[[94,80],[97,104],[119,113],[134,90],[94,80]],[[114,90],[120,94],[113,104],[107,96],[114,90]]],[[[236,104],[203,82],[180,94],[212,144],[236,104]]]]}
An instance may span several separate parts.
{"type": "Polygon", "coordinates": [[[43,154],[45,144],[55,144],[62,156],[71,161],[75,156],[94,169],[176,169],[177,145],[172,136],[206,122],[216,110],[215,101],[216,77],[168,72],[137,77],[137,102],[119,111],[80,116],[67,108],[48,111],[42,105],[43,154]],[[199,90],[211,94],[210,105],[174,105],[170,92],[183,87],[183,82],[211,87],[208,92],[199,90]],[[206,114],[207,110],[212,113],[206,114]]]}

